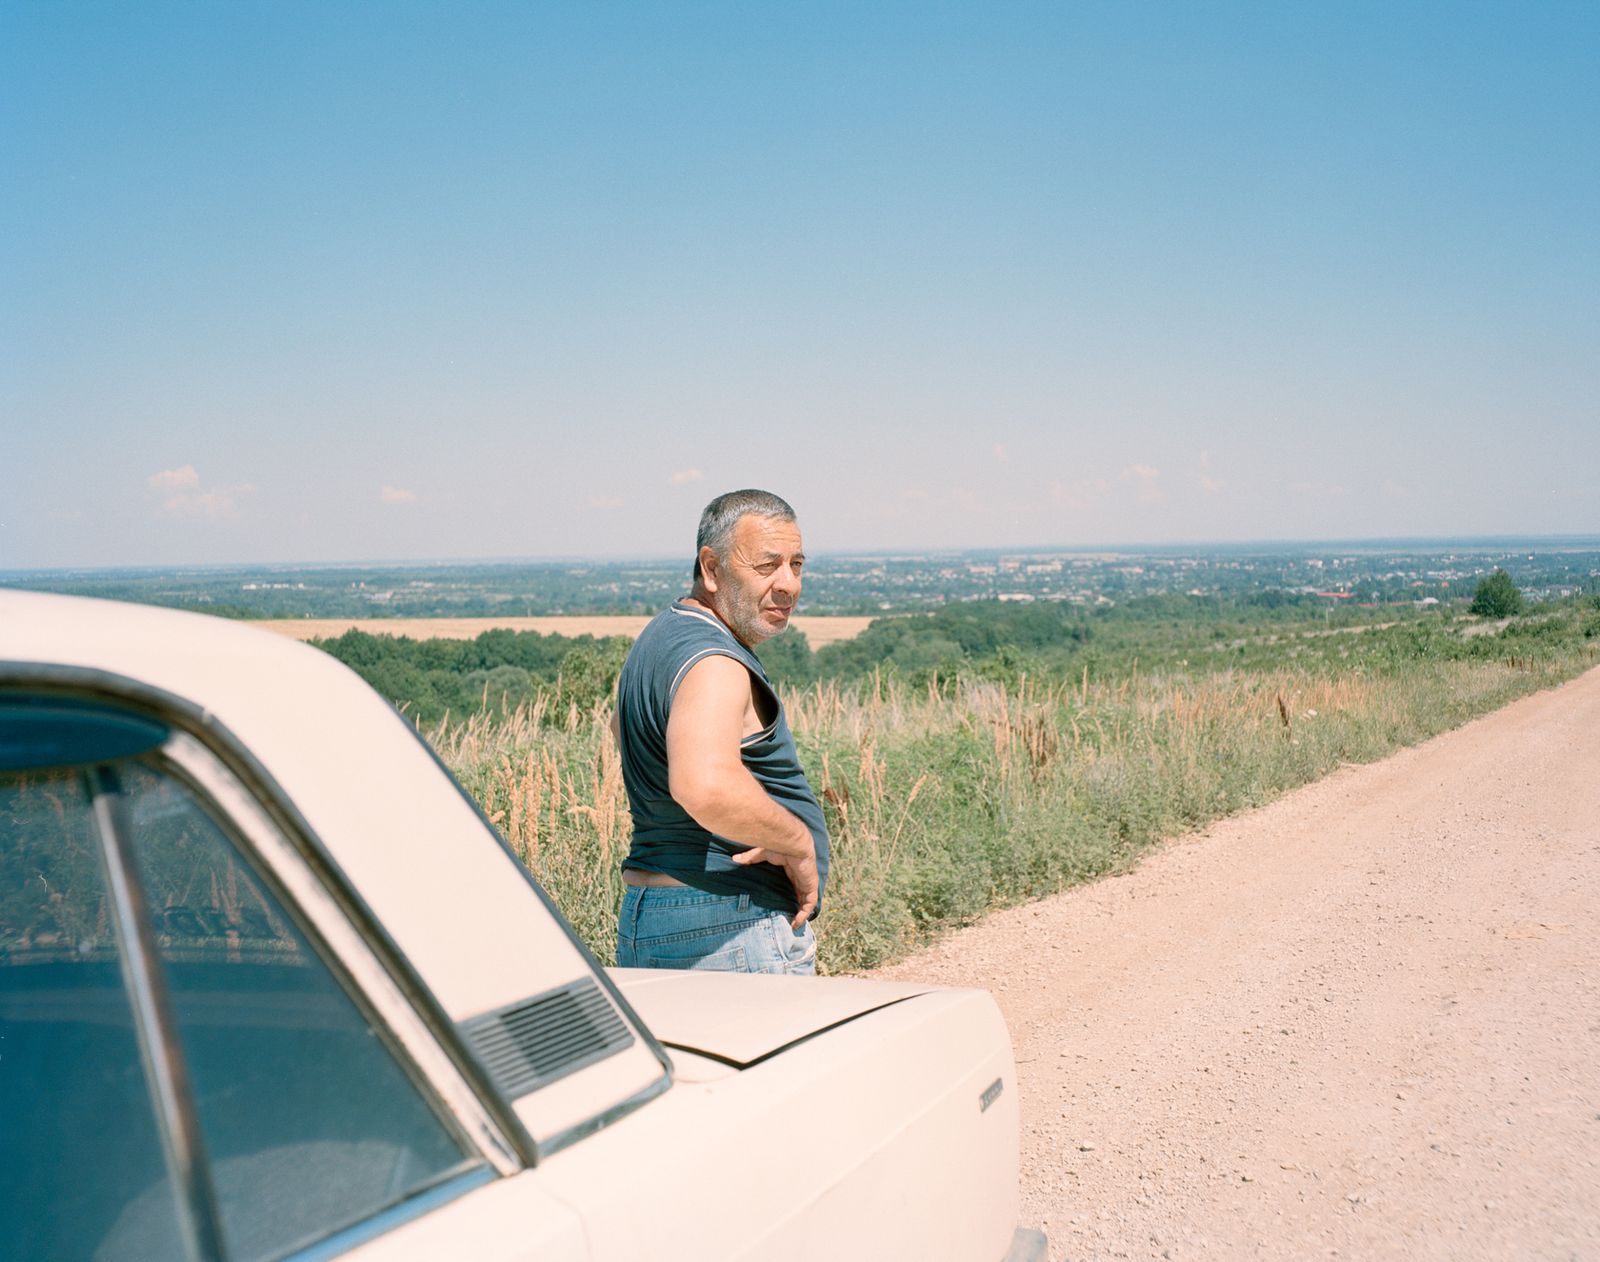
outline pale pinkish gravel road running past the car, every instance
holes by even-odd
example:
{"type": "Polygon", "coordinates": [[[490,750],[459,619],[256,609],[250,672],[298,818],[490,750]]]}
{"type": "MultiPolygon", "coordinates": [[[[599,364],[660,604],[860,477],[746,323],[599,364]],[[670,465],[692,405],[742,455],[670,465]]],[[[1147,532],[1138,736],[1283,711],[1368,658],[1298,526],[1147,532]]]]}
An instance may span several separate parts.
{"type": "Polygon", "coordinates": [[[995,992],[1051,1257],[1600,1259],[1600,670],[880,976],[995,992]]]}

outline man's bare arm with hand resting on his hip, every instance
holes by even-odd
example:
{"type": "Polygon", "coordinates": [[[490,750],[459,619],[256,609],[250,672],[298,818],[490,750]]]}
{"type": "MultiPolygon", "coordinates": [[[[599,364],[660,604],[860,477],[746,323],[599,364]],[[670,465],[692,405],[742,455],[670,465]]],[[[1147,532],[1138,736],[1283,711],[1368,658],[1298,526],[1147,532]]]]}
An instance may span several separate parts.
{"type": "Polygon", "coordinates": [[[750,675],[733,657],[702,657],[672,699],[667,789],[696,824],[754,851],[734,862],[781,864],[805,925],[816,907],[816,843],[797,814],[776,803],[739,758],[750,675]]]}

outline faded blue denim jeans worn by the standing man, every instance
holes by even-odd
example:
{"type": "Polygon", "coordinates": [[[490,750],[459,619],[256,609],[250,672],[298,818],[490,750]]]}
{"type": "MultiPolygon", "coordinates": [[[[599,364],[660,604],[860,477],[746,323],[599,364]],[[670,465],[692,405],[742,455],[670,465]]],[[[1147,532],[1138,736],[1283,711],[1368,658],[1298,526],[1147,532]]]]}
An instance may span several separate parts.
{"type": "Polygon", "coordinates": [[[627,886],[616,923],[619,968],[701,968],[722,972],[816,972],[816,934],[747,894],[677,886],[627,886]]]}

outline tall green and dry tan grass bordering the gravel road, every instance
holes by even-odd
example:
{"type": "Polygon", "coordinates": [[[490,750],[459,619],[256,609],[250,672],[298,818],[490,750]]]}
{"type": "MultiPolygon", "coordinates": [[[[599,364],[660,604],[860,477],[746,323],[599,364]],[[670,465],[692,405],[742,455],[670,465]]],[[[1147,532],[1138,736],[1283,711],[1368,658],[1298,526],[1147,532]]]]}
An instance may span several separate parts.
{"type": "MultiPolygon", "coordinates": [[[[1115,872],[1163,837],[1381,758],[1600,656],[1600,640],[1526,659],[1398,643],[1355,662],[1248,672],[925,688],[878,677],[787,694],[832,835],[821,968],[869,968],[994,907],[1115,872]]],[[[568,707],[552,723],[538,702],[429,734],[602,960],[629,838],[608,717],[568,707]]]]}

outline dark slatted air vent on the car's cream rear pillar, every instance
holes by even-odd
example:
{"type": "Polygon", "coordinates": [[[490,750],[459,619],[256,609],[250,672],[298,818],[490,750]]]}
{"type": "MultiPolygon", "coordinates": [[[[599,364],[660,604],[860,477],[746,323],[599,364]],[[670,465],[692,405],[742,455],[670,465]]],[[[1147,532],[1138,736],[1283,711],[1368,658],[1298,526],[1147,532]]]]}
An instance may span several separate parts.
{"type": "Polygon", "coordinates": [[[461,1022],[461,1032],[512,1100],[634,1043],[594,977],[483,1012],[461,1022]]]}

